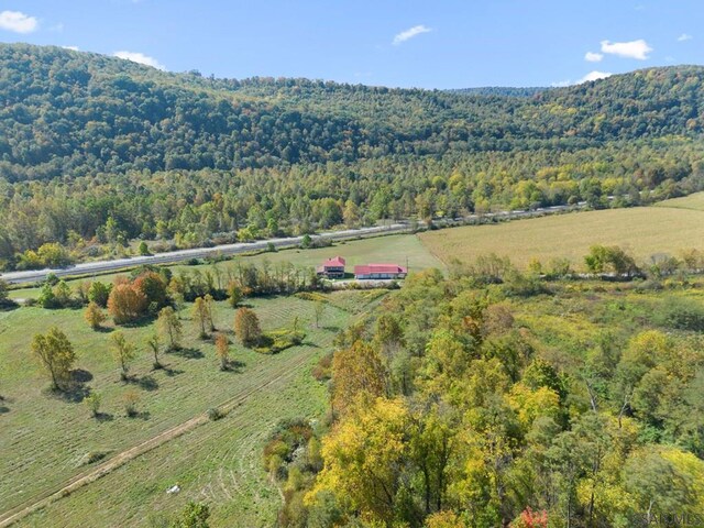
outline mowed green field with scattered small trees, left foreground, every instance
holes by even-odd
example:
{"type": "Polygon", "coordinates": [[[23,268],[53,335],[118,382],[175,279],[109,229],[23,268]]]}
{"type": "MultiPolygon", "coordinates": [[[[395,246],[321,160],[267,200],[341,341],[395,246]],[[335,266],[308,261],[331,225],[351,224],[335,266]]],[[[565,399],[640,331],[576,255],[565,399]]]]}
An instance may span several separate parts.
{"type": "MultiPolygon", "coordinates": [[[[154,324],[123,329],[138,343],[131,374],[120,381],[110,354],[109,331],[95,332],[82,310],[23,307],[0,312],[0,514],[33,497],[55,491],[69,477],[90,470],[89,452],[113,457],[170,427],[232,399],[226,418],[207,421],[183,437],[128,462],[45,510],[24,519],[26,526],[145,526],[151,512],[173,513],[189,499],[207,501],[212,526],[226,518],[242,526],[271,526],[280,497],[261,468],[266,436],[282,418],[320,418],[326,387],[310,370],[330,350],[337,332],[380,298],[376,292],[328,294],[320,328],[315,328],[314,302],[297,297],[252,299],[263,330],[289,327],[295,317],[307,332],[302,345],[277,355],[263,355],[232,345],[242,363],[221,372],[209,341],[197,338],[188,305],[180,312],[185,351],[164,355],[167,370],[153,371],[145,338],[154,324]],[[52,324],[64,329],[78,354],[76,366],[86,386],[102,396],[105,419],[96,420],[79,402],[47,391],[48,382],[31,356],[30,342],[52,324]],[[136,418],[125,417],[123,394],[140,394],[136,418]],[[165,491],[178,484],[182,493],[165,491]]],[[[216,324],[230,330],[234,310],[216,308],[216,324]]],[[[110,330],[110,329],[108,329],[110,330]]]]}

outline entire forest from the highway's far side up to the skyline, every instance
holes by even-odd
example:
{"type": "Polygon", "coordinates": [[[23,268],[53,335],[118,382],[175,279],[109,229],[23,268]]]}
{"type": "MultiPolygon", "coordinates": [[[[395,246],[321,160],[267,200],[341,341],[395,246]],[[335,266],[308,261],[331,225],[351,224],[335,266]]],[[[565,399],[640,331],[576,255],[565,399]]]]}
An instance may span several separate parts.
{"type": "Polygon", "coordinates": [[[703,77],[656,68],[513,96],[213,79],[3,44],[0,267],[135,238],[189,246],[688,194],[702,188],[703,77]],[[51,242],[64,248],[34,253],[51,242]]]}

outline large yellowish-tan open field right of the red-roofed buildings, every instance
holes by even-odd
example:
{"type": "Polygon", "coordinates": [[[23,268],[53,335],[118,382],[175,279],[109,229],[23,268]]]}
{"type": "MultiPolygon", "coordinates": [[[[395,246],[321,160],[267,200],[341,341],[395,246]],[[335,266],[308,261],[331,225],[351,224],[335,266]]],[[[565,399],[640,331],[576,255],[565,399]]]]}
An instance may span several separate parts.
{"type": "MultiPolygon", "coordinates": [[[[693,199],[694,200],[694,199],[693,199]]],[[[657,253],[676,255],[704,249],[704,210],[639,207],[574,212],[506,223],[462,227],[421,233],[439,260],[472,262],[487,253],[507,255],[519,267],[531,258],[547,264],[566,257],[579,268],[591,245],[619,245],[638,262],[657,253]]]]}

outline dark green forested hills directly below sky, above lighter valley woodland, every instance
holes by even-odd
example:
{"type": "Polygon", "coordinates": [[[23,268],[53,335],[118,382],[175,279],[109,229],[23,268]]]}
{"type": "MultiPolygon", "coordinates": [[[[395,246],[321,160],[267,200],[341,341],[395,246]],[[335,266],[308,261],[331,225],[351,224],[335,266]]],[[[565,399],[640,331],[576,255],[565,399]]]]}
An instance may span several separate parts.
{"type": "Polygon", "coordinates": [[[305,79],[219,80],[58,47],[0,45],[0,175],[272,167],[597,146],[702,130],[702,67],[531,97],[305,79]]]}

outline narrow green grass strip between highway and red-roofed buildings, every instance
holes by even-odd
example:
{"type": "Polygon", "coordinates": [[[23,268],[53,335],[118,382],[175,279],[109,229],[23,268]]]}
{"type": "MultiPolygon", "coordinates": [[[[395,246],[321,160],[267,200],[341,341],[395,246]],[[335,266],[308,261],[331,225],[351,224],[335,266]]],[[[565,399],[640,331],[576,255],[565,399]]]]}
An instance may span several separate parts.
{"type": "MultiPolygon", "coordinates": [[[[340,242],[331,248],[319,248],[311,250],[282,250],[274,253],[262,253],[253,256],[235,256],[232,260],[223,261],[217,264],[220,270],[232,266],[238,260],[244,263],[261,264],[268,261],[272,264],[277,262],[290,262],[299,267],[316,267],[326,258],[331,256],[343,256],[346,260],[348,272],[352,272],[353,266],[358,264],[369,264],[373,262],[391,262],[403,266],[408,263],[410,271],[425,270],[427,267],[442,267],[442,263],[438,261],[413,234],[392,234],[387,237],[376,237],[371,239],[359,239],[340,242]]],[[[173,273],[182,270],[211,270],[212,265],[188,266],[185,264],[176,264],[168,266],[173,273]]],[[[111,282],[119,273],[101,275],[96,277],[99,280],[111,282]]],[[[85,280],[86,278],[84,278],[85,280]]],[[[72,280],[68,280],[72,283],[72,280]]],[[[32,299],[40,294],[40,288],[21,288],[10,292],[13,299],[32,299]]]]}

